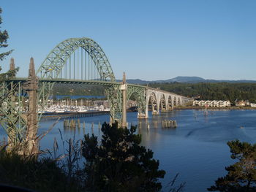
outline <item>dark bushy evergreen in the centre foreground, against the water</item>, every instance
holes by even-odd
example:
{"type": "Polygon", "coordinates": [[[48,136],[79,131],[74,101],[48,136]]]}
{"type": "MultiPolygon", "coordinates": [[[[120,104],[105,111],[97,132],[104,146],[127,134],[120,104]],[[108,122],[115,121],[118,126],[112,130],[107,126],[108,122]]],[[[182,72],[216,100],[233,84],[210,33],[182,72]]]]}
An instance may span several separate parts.
{"type": "Polygon", "coordinates": [[[160,191],[159,161],[152,150],[140,146],[136,127],[118,128],[117,123],[102,125],[102,142],[84,136],[83,156],[86,158],[86,188],[91,191],[160,191]]]}

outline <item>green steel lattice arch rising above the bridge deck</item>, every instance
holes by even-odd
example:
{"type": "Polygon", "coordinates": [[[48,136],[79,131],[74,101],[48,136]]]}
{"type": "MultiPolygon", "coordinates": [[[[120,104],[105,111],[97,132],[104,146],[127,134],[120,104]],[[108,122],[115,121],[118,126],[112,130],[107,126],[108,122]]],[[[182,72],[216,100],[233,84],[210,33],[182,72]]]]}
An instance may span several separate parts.
{"type": "MultiPolygon", "coordinates": [[[[97,42],[94,42],[94,40],[87,37],[69,38],[59,43],[59,45],[56,45],[37,70],[37,76],[42,79],[59,78],[61,70],[67,64],[68,59],[70,59],[71,55],[75,53],[75,50],[78,50],[79,47],[85,50],[94,61],[100,80],[111,82],[116,81],[116,77],[104,51],[97,42]]],[[[73,65],[75,70],[75,64],[73,65]]]]}

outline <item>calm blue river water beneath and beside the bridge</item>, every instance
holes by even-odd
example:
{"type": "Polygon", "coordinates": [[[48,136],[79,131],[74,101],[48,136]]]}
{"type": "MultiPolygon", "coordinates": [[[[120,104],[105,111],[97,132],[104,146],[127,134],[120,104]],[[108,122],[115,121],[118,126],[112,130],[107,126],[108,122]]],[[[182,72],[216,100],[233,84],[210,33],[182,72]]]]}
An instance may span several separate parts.
{"type": "MultiPolygon", "coordinates": [[[[81,125],[74,131],[64,130],[64,122],[60,120],[42,139],[41,148],[52,149],[54,138],[61,149],[61,141],[70,137],[83,139],[83,134],[92,132],[100,137],[99,122],[108,122],[109,115],[80,118],[80,123],[83,121],[85,130],[81,125]],[[92,122],[94,128],[91,128],[92,122]]],[[[162,180],[163,191],[167,191],[165,186],[176,173],[179,173],[177,185],[186,182],[184,191],[207,191],[206,188],[214,185],[214,180],[227,173],[225,166],[234,163],[227,141],[256,142],[256,110],[173,110],[162,115],[149,115],[148,120],[138,120],[137,112],[129,112],[127,121],[140,126],[138,132],[142,134],[142,145],[154,151],[160,169],[167,172],[162,180]],[[161,128],[165,119],[176,120],[178,127],[161,128]]],[[[42,121],[39,133],[53,123],[54,120],[42,121]]]]}

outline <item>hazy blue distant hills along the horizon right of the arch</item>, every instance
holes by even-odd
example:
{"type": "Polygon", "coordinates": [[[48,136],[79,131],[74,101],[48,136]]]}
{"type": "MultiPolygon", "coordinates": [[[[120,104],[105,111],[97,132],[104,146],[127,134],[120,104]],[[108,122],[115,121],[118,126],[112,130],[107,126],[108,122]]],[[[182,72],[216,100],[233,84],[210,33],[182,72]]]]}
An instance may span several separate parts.
{"type": "MultiPolygon", "coordinates": [[[[121,82],[121,80],[117,80],[121,82]]],[[[202,77],[187,77],[187,76],[178,76],[169,80],[154,80],[154,81],[146,81],[146,80],[127,80],[128,83],[132,84],[149,84],[149,83],[165,83],[165,82],[189,82],[189,83],[197,83],[197,82],[232,82],[232,83],[239,83],[239,82],[253,82],[256,83],[256,80],[206,80],[202,77]]]]}

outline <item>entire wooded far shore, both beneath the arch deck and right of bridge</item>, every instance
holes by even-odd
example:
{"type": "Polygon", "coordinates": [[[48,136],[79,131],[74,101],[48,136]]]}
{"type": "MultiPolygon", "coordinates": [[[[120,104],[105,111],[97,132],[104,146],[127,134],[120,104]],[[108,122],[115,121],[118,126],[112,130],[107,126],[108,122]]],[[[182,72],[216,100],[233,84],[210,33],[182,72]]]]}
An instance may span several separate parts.
{"type": "MultiPolygon", "coordinates": [[[[249,100],[256,102],[256,83],[199,82],[199,83],[152,83],[151,88],[160,88],[183,96],[203,100],[249,100]]],[[[104,96],[104,85],[56,84],[53,95],[104,96]]]]}

